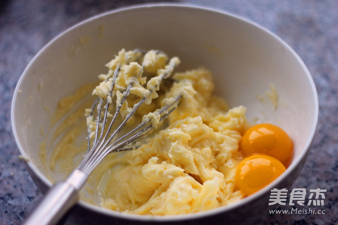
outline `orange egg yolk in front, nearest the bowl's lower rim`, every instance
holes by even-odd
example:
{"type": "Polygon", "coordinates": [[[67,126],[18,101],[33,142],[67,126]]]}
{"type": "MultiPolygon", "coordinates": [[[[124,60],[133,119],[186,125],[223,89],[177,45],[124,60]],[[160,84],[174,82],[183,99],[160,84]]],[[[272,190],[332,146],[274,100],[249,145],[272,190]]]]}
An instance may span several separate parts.
{"type": "Polygon", "coordinates": [[[277,159],[264,154],[251,155],[244,159],[236,170],[236,183],[241,191],[250,195],[270,184],[285,171],[277,159]]]}

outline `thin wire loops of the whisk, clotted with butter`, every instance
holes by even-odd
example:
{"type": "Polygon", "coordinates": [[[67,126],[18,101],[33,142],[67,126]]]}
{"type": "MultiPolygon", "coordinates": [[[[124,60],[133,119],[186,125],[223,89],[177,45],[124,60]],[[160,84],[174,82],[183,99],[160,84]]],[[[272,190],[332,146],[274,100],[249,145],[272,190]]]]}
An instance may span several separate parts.
{"type": "MultiPolygon", "coordinates": [[[[135,50],[137,51],[137,50],[135,50]]],[[[144,54],[143,52],[138,52],[141,54],[144,54]]],[[[128,57],[126,61],[130,62],[131,60],[136,60],[136,57],[128,57]]],[[[93,143],[91,145],[90,139],[91,139],[91,129],[88,127],[88,153],[85,155],[85,158],[82,160],[80,165],[78,166],[78,169],[86,174],[90,174],[93,169],[103,160],[103,158],[111,153],[111,152],[121,152],[126,150],[134,149],[134,146],[128,146],[132,143],[135,143],[140,138],[144,137],[145,134],[149,133],[152,128],[154,128],[154,124],[150,124],[151,120],[146,119],[142,121],[138,126],[136,126],[131,131],[123,134],[123,136],[119,137],[117,140],[114,140],[116,138],[117,133],[125,126],[125,124],[130,120],[130,118],[136,113],[136,110],[145,102],[148,98],[152,98],[154,92],[156,92],[159,88],[159,84],[166,78],[168,78],[171,73],[173,72],[173,69],[177,66],[177,62],[175,60],[171,60],[168,66],[160,71],[158,75],[158,80],[155,84],[150,85],[150,88],[147,88],[149,92],[146,93],[143,98],[135,103],[133,105],[133,108],[128,112],[128,114],[124,117],[124,120],[117,126],[117,128],[111,133],[112,128],[114,126],[114,123],[120,114],[121,108],[123,103],[126,101],[126,98],[131,94],[132,87],[134,85],[133,82],[130,82],[127,84],[127,86],[124,89],[124,92],[122,93],[120,102],[116,103],[116,109],[115,114],[112,116],[112,119],[110,121],[110,124],[108,127],[106,127],[108,122],[108,114],[109,114],[109,107],[111,102],[111,99],[107,99],[107,104],[105,104],[104,108],[104,115],[102,115],[102,104],[104,99],[99,97],[98,100],[96,100],[91,108],[93,111],[95,106],[97,107],[97,116],[96,116],[96,127],[95,127],[95,137],[93,140],[93,143]],[[100,133],[100,134],[99,134],[100,133]],[[113,141],[114,140],[114,141],[113,141]],[[128,146],[128,147],[126,147],[128,146]]],[[[112,98],[112,94],[114,92],[114,85],[115,81],[117,79],[117,76],[120,73],[121,68],[119,66],[116,66],[114,75],[113,75],[113,81],[110,89],[110,98],[112,98]]],[[[111,75],[111,72],[110,72],[111,75]]],[[[109,76],[107,80],[109,79],[109,76]]],[[[106,80],[106,81],[107,81],[106,80]]],[[[149,81],[148,81],[149,83],[149,81]]],[[[174,101],[172,101],[168,105],[164,105],[160,109],[157,109],[154,111],[159,115],[159,122],[162,121],[164,118],[166,118],[178,105],[178,102],[182,96],[178,95],[175,97],[174,101]]],[[[92,111],[89,116],[92,116],[92,111]]]]}

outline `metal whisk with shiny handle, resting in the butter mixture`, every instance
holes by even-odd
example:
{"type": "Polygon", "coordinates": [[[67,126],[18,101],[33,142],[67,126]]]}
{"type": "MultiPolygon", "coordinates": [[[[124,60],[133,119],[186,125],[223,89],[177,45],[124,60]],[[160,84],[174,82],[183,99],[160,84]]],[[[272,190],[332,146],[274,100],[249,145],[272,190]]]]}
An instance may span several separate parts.
{"type": "MultiPolygon", "coordinates": [[[[134,50],[134,53],[141,53],[138,55],[144,55],[144,52],[140,50],[134,50]]],[[[138,60],[138,57],[128,57],[126,62],[130,63],[132,61],[138,60]]],[[[112,152],[121,152],[135,149],[133,145],[140,138],[144,137],[145,134],[152,131],[156,125],[154,125],[150,119],[142,119],[142,122],[139,123],[135,128],[126,132],[121,136],[117,136],[119,131],[129,119],[136,113],[136,110],[158,89],[158,85],[162,82],[163,79],[169,77],[173,69],[178,65],[178,60],[171,60],[166,66],[165,70],[162,71],[162,74],[158,76],[157,85],[152,88],[146,96],[141,98],[141,100],[134,104],[130,112],[123,118],[123,121],[117,125],[117,128],[113,130],[113,126],[116,126],[116,121],[118,116],[121,114],[120,110],[123,103],[126,101],[128,96],[130,96],[131,89],[134,85],[133,82],[128,84],[123,90],[123,95],[119,103],[113,105],[115,107],[115,113],[111,115],[109,113],[109,108],[112,107],[112,101],[108,98],[104,99],[99,97],[96,99],[94,104],[91,107],[91,112],[89,117],[93,116],[93,111],[97,108],[96,116],[96,126],[95,134],[93,141],[92,131],[88,125],[88,150],[87,154],[77,167],[66,179],[64,182],[56,183],[45,195],[43,200],[39,205],[34,209],[34,211],[29,215],[29,217],[24,221],[23,224],[56,224],[78,201],[78,192],[81,187],[86,183],[89,175],[93,172],[96,166],[103,160],[105,156],[112,152]],[[105,102],[105,104],[104,104],[105,102]],[[103,106],[104,105],[104,106],[103,106]],[[103,106],[103,107],[102,107],[103,106]]],[[[113,81],[110,91],[110,98],[114,93],[114,85],[117,77],[121,74],[120,66],[116,66],[113,72],[113,81]]],[[[107,78],[108,79],[108,78],[107,78]]],[[[106,80],[107,81],[107,80],[106,80]]],[[[177,107],[179,100],[182,96],[177,95],[170,101],[170,103],[165,104],[159,109],[156,109],[153,113],[159,116],[159,121],[165,119],[173,110],[177,107]]]]}

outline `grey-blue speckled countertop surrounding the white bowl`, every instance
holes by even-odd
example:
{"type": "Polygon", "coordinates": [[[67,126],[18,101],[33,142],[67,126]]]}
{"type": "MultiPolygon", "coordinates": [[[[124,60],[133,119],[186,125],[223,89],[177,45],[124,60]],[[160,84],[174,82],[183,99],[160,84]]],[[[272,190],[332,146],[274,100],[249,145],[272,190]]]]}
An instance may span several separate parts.
{"type": "MultiPolygon", "coordinates": [[[[76,22],[145,2],[157,1],[0,1],[0,225],[20,224],[42,197],[18,159],[10,122],[12,95],[26,65],[48,41],[76,22]]],[[[338,224],[338,1],[171,2],[206,5],[246,17],[280,36],[300,55],[318,90],[320,114],[310,155],[291,189],[327,189],[325,206],[316,208],[325,214],[265,212],[254,224],[338,224]]]]}

